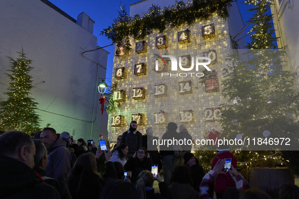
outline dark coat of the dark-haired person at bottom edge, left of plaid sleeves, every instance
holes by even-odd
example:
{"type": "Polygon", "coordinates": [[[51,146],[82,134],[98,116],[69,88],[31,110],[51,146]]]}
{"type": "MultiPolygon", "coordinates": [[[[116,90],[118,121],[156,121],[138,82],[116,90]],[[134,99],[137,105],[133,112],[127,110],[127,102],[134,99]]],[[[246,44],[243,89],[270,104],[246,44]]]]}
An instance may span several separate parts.
{"type": "Polygon", "coordinates": [[[172,182],[169,185],[169,192],[172,199],[195,199],[198,198],[198,192],[190,184],[181,184],[172,182]]]}

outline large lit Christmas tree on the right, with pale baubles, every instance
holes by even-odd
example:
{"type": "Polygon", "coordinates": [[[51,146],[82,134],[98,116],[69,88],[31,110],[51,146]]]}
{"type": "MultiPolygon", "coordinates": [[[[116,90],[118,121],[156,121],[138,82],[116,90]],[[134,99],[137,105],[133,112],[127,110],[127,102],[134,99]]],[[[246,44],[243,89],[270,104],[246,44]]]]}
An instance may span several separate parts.
{"type": "Polygon", "coordinates": [[[249,11],[255,12],[248,21],[253,25],[248,32],[250,42],[246,47],[249,49],[243,54],[248,61],[240,61],[238,53],[241,51],[231,55],[233,64],[230,70],[224,70],[222,82],[222,95],[227,103],[221,106],[221,136],[234,139],[241,134],[242,139],[251,140],[251,145],[245,144],[242,148],[249,151],[235,153],[238,166],[244,169],[244,176],[249,165],[275,167],[286,163],[282,158],[283,152],[275,151],[275,148],[281,148],[281,142],[276,144],[269,140],[278,138],[281,141],[280,138],[289,137],[290,147],[295,148],[299,133],[299,125],[294,118],[299,113],[294,74],[285,69],[282,59],[285,52],[273,49],[277,38],[274,36],[272,16],[267,14],[271,1],[249,0],[245,3],[253,5],[249,11]],[[255,142],[255,151],[250,151],[254,138],[261,138],[261,147],[256,147],[258,144],[255,142]]]}

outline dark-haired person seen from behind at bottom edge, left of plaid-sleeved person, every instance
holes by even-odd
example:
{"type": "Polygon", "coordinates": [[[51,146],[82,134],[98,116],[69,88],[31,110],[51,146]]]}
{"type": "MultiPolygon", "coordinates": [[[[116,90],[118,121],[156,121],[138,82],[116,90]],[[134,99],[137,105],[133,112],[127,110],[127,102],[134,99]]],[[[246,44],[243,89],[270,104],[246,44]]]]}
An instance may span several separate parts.
{"type": "Polygon", "coordinates": [[[191,172],[187,165],[177,165],[170,178],[169,192],[173,199],[198,198],[198,192],[191,186],[191,172]]]}

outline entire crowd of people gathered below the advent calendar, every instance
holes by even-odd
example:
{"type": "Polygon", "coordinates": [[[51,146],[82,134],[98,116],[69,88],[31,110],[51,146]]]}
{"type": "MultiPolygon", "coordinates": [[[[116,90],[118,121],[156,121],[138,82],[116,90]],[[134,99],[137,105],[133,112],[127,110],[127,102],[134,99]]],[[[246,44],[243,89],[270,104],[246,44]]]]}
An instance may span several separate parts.
{"type": "MultiPolygon", "coordinates": [[[[101,150],[94,142],[75,141],[68,132],[59,134],[50,127],[31,136],[0,132],[0,198],[271,198],[237,172],[228,146],[219,148],[205,174],[191,145],[161,145],[158,151],[151,142],[158,139],[153,128],[145,135],[137,128],[132,121],[111,151],[108,145],[101,150]],[[231,161],[227,171],[226,159],[231,161]],[[99,172],[99,165],[105,172],[99,172]]],[[[173,138],[192,140],[184,124],[178,128],[169,122],[162,139],[173,138]]],[[[281,185],[279,198],[299,198],[299,187],[281,185]]]]}

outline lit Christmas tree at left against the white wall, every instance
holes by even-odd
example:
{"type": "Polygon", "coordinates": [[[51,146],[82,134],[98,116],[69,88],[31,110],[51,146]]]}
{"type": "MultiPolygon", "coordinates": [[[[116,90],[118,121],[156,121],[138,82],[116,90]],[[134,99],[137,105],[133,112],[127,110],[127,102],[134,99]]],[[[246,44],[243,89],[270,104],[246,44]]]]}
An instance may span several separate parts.
{"type": "Polygon", "coordinates": [[[0,129],[4,131],[20,130],[27,134],[35,133],[39,128],[39,116],[35,113],[37,103],[29,96],[32,86],[33,69],[31,60],[25,57],[24,51],[19,58],[10,59],[10,73],[7,73],[11,82],[7,88],[7,101],[0,103],[0,129]]]}

